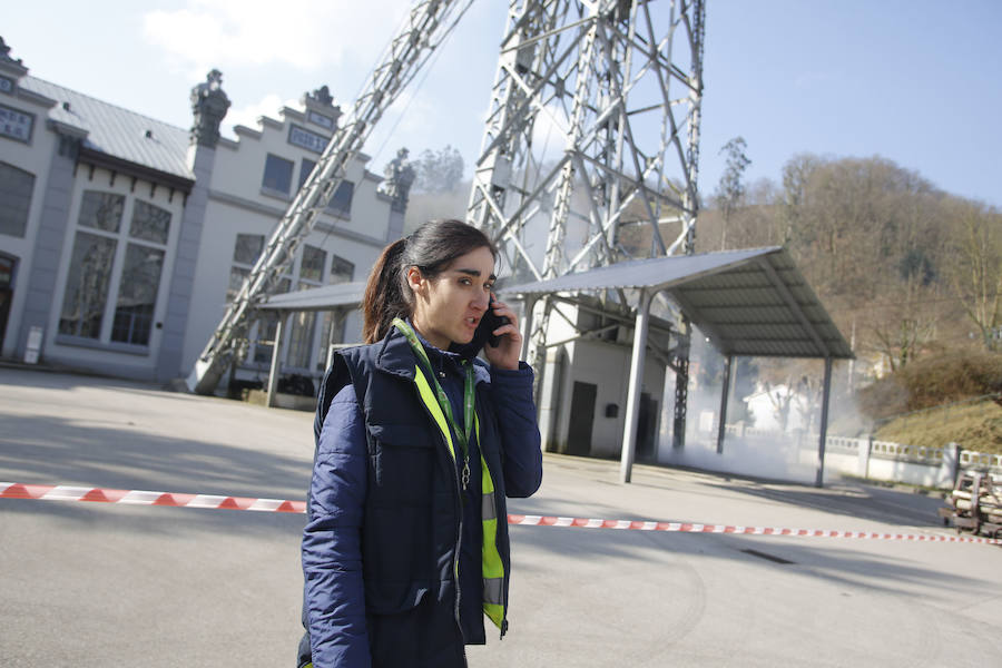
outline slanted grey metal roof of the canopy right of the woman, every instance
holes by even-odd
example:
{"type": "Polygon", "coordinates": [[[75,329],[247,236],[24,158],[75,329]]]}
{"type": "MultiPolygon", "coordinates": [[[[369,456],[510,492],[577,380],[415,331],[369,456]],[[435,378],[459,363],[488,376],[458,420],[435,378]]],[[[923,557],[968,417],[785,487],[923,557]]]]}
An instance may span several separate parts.
{"type": "Polygon", "coordinates": [[[636,288],[667,292],[724,354],[851,358],[853,352],[782,247],[617,263],[505,295],[636,288]]]}

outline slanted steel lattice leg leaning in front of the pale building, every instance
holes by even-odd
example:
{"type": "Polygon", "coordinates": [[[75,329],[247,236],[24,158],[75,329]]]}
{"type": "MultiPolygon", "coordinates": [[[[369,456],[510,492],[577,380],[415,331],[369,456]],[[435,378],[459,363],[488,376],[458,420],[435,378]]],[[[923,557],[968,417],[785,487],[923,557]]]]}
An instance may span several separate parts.
{"type": "Polygon", "coordinates": [[[299,243],[316,225],[321,213],[344,180],[345,166],[358,154],[383,112],[425,65],[471,2],[419,0],[414,3],[403,27],[354,101],[351,112],[342,117],[343,122],[278,222],[264,253],[195,362],[195,369],[188,376],[189,390],[212,394],[226,370],[245,354],[255,305],[274,292],[282,274],[292,264],[299,243]]]}

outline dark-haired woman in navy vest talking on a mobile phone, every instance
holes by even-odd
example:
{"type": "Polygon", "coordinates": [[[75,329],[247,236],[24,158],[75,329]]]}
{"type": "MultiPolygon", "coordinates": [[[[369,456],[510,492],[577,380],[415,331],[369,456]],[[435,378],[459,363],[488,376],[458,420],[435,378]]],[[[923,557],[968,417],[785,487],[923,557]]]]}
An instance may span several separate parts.
{"type": "Polygon", "coordinates": [[[335,356],[317,400],[301,666],[462,667],[484,616],[507,630],[504,498],[536,492],[542,456],[518,318],[490,302],[495,258],[440,220],[373,267],[369,345],[335,356]],[[488,308],[508,318],[490,366],[462,347],[488,308]]]}

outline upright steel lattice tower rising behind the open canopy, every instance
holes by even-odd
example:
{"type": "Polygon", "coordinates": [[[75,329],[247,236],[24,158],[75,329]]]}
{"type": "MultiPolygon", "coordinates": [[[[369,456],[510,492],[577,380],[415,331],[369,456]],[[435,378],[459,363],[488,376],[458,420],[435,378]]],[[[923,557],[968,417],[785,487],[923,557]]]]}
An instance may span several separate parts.
{"type": "MultiPolygon", "coordinates": [[[[511,0],[468,219],[513,275],[694,250],[704,22],[703,0],[511,0]]],[[[621,291],[603,302],[629,312],[621,291]]],[[[552,301],[540,311],[538,372],[552,301]]],[[[678,446],[689,326],[675,315],[678,446]]]]}

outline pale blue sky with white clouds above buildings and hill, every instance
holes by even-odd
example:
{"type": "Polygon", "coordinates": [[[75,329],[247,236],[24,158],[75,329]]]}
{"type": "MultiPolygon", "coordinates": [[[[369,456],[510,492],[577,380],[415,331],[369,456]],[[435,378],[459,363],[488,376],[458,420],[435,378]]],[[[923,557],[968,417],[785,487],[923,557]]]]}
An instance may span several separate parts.
{"type": "MultiPolygon", "coordinates": [[[[16,3],[0,37],[31,73],[175,125],[216,67],[225,128],[275,115],[328,85],[347,107],[406,0],[169,0],[16,3]]],[[[482,137],[507,2],[479,0],[365,151],[382,171],[400,146],[482,137]]],[[[880,155],[935,186],[1002,207],[1002,2],[707,0],[700,189],[720,147],[747,143],[749,180],[778,181],[798,153],[880,155]]]]}

